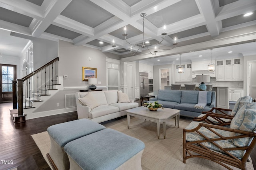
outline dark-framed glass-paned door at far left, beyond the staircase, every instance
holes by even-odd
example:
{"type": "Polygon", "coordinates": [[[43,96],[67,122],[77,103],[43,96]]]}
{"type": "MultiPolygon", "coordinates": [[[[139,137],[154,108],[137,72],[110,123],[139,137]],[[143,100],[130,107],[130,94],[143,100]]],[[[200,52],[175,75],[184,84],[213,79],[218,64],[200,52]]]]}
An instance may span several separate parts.
{"type": "Polygon", "coordinates": [[[0,64],[0,102],[12,101],[12,80],[16,80],[16,65],[0,64]]]}

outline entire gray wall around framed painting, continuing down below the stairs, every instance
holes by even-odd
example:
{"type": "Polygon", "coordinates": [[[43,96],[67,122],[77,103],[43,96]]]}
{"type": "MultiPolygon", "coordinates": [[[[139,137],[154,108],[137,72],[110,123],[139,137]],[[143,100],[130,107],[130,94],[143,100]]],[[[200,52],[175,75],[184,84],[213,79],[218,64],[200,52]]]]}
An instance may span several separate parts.
{"type": "MultiPolygon", "coordinates": [[[[82,67],[97,68],[97,80],[102,84],[96,84],[97,87],[106,87],[106,57],[116,58],[116,55],[105,55],[98,49],[93,49],[84,46],[74,46],[66,41],[59,41],[59,76],[68,75],[68,78],[63,78],[64,90],[56,93],[42,106],[35,111],[50,111],[55,109],[65,108],[65,94],[74,94],[79,92],[80,88],[88,87],[88,81],[82,81],[82,67]],[[89,60],[89,57],[91,60],[89,60]],[[69,90],[65,90],[68,87],[69,90]],[[60,106],[56,107],[56,103],[60,106]]],[[[42,63],[41,63],[42,64],[42,63]]],[[[106,88],[102,88],[106,90],[106,88]]]]}

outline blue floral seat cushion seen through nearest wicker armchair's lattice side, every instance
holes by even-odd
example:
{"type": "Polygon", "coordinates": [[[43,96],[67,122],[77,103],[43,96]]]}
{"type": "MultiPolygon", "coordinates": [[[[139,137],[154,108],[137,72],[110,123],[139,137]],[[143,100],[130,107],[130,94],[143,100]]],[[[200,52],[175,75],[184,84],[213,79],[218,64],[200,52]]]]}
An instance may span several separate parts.
{"type": "MultiPolygon", "coordinates": [[[[195,127],[198,126],[199,123],[202,123],[202,122],[192,121],[186,127],[186,129],[194,129],[195,127]]],[[[206,129],[205,127],[201,127],[198,131],[200,133],[202,133],[203,135],[205,135],[206,137],[210,138],[210,139],[220,138],[218,135],[216,135],[212,131],[206,129]]],[[[230,132],[229,131],[223,131],[223,130],[220,130],[220,129],[214,129],[214,131],[216,131],[217,133],[219,133],[223,137],[230,137],[230,132]]],[[[202,141],[202,140],[205,140],[205,138],[197,132],[187,132],[186,133],[186,141],[192,142],[192,141],[202,141]]],[[[230,139],[229,140],[215,141],[214,143],[216,145],[221,146],[222,148],[236,148],[233,141],[230,140],[230,139]]],[[[219,147],[217,147],[216,145],[214,145],[211,142],[204,142],[204,143],[201,143],[201,144],[204,145],[205,147],[209,148],[209,149],[216,150],[221,154],[226,154],[223,150],[221,150],[219,147]]],[[[242,158],[245,154],[245,150],[230,150],[228,152],[230,152],[230,154],[236,156],[237,158],[242,158]]]]}

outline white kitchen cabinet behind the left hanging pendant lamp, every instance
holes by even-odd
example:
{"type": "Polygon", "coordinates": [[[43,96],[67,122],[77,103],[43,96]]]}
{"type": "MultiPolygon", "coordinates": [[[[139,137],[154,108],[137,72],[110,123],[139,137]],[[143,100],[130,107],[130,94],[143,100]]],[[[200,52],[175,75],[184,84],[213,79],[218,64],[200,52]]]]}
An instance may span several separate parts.
{"type": "Polygon", "coordinates": [[[180,65],[176,65],[175,81],[176,82],[192,82],[192,64],[182,64],[183,73],[178,73],[180,65]]]}

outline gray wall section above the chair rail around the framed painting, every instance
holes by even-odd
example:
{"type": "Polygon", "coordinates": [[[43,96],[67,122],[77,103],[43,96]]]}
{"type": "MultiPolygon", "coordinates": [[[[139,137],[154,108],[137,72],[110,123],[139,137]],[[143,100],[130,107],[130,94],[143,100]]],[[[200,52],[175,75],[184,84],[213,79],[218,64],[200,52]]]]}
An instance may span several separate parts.
{"type": "Polygon", "coordinates": [[[63,79],[64,87],[88,86],[88,81],[82,81],[82,67],[97,68],[97,81],[106,86],[106,57],[98,49],[84,46],[74,46],[66,41],[59,42],[59,74],[68,75],[63,79]],[[91,60],[89,60],[89,57],[91,60]]]}

